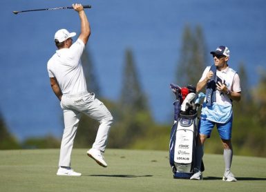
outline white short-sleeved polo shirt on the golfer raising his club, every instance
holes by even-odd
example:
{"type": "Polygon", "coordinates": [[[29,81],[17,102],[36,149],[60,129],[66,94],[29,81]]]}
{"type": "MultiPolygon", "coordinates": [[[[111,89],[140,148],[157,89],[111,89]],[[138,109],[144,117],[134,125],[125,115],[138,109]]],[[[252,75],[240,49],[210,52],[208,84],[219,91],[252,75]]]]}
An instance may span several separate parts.
{"type": "Polygon", "coordinates": [[[57,79],[63,95],[76,95],[87,91],[81,62],[84,48],[84,42],[77,39],[70,48],[57,50],[48,61],[48,75],[57,79]]]}

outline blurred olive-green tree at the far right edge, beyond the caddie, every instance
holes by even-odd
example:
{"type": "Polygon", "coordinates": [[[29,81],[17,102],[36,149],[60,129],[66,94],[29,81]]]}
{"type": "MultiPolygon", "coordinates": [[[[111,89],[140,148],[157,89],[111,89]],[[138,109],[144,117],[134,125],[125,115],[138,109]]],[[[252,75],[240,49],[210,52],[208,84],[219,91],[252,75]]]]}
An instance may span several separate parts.
{"type": "MultiPolygon", "coordinates": [[[[251,90],[249,90],[251,93],[251,90]]],[[[242,92],[241,92],[242,95],[242,92]]],[[[266,156],[266,73],[260,70],[260,80],[246,102],[248,111],[239,111],[235,116],[238,121],[238,137],[242,135],[240,153],[244,155],[266,156]],[[239,117],[238,117],[239,116],[239,117]],[[256,146],[256,147],[254,147],[256,146]]],[[[234,130],[233,130],[234,131],[234,130]]]]}

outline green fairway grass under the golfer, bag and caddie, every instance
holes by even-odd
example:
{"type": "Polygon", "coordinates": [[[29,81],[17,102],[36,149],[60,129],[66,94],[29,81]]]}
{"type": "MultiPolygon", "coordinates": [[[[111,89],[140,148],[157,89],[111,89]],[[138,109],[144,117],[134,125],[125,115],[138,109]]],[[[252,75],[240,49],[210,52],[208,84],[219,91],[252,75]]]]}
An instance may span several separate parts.
{"type": "Polygon", "coordinates": [[[73,149],[82,177],[57,176],[59,149],[0,151],[0,191],[266,191],[266,158],[234,156],[238,182],[223,182],[222,155],[204,156],[203,181],[176,180],[168,151],[107,149],[107,168],[73,149]]]}

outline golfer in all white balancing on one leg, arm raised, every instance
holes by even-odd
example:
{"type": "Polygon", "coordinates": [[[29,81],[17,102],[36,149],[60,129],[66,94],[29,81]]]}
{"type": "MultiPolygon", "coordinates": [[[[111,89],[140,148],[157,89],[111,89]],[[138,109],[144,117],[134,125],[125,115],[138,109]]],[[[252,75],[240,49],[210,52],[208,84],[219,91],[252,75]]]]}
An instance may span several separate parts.
{"type": "Polygon", "coordinates": [[[105,151],[108,133],[113,117],[106,106],[95,98],[94,93],[88,93],[81,63],[82,52],[91,35],[90,24],[81,4],[73,4],[81,21],[81,33],[73,43],[71,39],[75,32],[66,29],[55,33],[55,45],[58,50],[47,64],[50,85],[58,97],[64,111],[64,133],[61,140],[59,169],[57,175],[80,176],[82,173],[73,171],[70,167],[70,156],[81,113],[99,122],[99,128],[93,147],[87,151],[97,164],[106,167],[102,153],[105,151]]]}

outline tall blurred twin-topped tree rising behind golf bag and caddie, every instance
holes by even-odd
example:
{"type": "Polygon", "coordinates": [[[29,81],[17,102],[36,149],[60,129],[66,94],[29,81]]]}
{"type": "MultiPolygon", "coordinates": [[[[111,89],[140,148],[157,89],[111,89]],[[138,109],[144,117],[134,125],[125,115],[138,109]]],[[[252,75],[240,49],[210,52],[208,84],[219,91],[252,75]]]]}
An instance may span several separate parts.
{"type": "Polygon", "coordinates": [[[180,59],[177,73],[175,73],[177,84],[180,86],[187,86],[187,84],[196,86],[206,66],[206,54],[202,28],[197,26],[195,32],[191,32],[189,26],[185,26],[180,59]]]}

